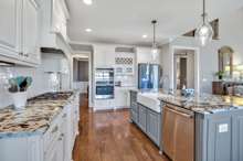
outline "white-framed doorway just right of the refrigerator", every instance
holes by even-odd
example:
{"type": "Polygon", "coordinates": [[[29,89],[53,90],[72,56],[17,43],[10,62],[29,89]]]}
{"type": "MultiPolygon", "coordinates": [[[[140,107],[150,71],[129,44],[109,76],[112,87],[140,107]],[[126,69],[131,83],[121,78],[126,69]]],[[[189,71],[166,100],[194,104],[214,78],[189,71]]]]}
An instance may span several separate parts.
{"type": "Polygon", "coordinates": [[[193,88],[198,90],[197,51],[175,49],[173,87],[175,89],[193,88]]]}

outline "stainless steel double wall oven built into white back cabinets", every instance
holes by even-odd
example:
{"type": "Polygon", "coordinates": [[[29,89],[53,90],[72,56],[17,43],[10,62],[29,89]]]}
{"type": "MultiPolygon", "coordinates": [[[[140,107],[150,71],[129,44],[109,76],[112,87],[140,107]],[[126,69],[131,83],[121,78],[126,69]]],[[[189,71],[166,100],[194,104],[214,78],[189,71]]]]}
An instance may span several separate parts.
{"type": "Polygon", "coordinates": [[[96,68],[95,72],[95,98],[114,98],[114,68],[96,68]]]}

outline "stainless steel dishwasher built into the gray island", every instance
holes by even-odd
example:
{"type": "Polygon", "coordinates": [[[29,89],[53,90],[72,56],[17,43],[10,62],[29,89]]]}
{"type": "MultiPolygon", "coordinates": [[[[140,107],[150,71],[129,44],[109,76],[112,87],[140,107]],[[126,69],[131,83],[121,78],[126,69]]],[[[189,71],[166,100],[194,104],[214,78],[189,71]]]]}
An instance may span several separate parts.
{"type": "Polygon", "coordinates": [[[162,117],[162,150],[172,161],[194,161],[194,114],[167,104],[162,117]]]}

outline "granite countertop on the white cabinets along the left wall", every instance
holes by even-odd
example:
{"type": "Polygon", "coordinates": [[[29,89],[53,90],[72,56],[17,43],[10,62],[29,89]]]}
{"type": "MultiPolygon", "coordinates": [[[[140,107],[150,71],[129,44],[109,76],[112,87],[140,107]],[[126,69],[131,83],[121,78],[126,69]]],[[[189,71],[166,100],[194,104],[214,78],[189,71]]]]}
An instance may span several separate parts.
{"type": "Polygon", "coordinates": [[[22,110],[1,109],[0,138],[44,133],[73,95],[73,92],[47,93],[30,99],[22,110]]]}

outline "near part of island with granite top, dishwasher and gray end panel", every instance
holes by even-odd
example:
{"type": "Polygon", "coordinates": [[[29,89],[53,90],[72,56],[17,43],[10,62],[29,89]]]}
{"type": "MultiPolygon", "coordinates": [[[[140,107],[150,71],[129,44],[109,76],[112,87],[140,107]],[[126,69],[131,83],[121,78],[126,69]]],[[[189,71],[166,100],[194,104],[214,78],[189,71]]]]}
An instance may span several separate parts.
{"type": "Polygon", "coordinates": [[[173,161],[242,161],[243,98],[160,93],[161,149],[173,161]]]}

